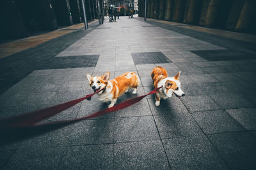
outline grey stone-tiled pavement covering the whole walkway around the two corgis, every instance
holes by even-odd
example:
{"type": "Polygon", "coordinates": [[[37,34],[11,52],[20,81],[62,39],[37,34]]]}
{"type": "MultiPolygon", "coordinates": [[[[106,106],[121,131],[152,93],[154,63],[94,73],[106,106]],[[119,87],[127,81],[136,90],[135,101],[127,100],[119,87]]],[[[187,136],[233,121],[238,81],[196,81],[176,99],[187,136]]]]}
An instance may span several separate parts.
{"type": "MultiPolygon", "coordinates": [[[[241,35],[240,35],[241,36],[241,35]]],[[[120,17],[0,59],[0,117],[91,94],[86,73],[181,71],[185,97],[124,110],[0,146],[0,169],[256,169],[256,46],[142,18],[120,17]]],[[[107,108],[97,96],[44,122],[107,108]]]]}

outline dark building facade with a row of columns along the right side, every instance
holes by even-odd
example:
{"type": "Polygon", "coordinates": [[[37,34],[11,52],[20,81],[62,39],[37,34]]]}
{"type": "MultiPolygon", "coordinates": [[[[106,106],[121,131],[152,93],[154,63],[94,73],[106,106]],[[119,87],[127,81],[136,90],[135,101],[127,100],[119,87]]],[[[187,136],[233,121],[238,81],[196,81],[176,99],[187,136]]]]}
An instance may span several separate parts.
{"type": "MultiPolygon", "coordinates": [[[[145,0],[138,0],[139,17],[145,0]]],[[[230,31],[256,32],[255,0],[147,0],[147,17],[230,31]]]]}

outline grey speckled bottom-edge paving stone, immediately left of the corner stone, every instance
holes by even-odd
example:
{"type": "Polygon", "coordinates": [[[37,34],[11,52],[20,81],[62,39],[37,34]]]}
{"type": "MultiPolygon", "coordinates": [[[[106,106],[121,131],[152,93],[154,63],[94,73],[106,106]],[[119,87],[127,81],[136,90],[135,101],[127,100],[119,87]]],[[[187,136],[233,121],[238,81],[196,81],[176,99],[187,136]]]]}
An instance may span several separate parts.
{"type": "Polygon", "coordinates": [[[172,169],[228,169],[205,136],[164,139],[172,169]]]}

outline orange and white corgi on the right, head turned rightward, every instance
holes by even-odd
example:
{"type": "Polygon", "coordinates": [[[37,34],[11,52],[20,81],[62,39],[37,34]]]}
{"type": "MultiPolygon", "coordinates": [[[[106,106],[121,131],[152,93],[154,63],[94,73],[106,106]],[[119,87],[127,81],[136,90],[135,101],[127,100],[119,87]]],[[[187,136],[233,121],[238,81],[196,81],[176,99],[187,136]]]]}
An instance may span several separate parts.
{"type": "Polygon", "coordinates": [[[154,88],[162,87],[155,94],[156,106],[160,105],[161,98],[167,99],[175,94],[176,97],[185,96],[184,92],[180,89],[180,72],[174,77],[168,77],[166,69],[163,67],[155,67],[151,72],[154,88]]]}

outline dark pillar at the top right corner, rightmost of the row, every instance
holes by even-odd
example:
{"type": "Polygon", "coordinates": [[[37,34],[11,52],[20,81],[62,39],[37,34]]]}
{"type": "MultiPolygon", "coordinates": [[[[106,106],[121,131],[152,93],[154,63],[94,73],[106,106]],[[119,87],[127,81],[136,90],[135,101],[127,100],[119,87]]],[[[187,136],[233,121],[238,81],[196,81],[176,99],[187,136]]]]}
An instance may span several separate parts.
{"type": "Polygon", "coordinates": [[[246,31],[249,29],[251,25],[255,23],[251,23],[253,18],[255,17],[256,10],[256,2],[255,0],[246,0],[244,2],[243,9],[241,14],[237,20],[236,30],[237,31],[246,31]]]}

